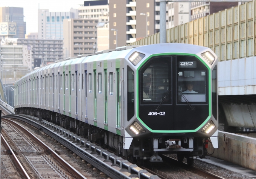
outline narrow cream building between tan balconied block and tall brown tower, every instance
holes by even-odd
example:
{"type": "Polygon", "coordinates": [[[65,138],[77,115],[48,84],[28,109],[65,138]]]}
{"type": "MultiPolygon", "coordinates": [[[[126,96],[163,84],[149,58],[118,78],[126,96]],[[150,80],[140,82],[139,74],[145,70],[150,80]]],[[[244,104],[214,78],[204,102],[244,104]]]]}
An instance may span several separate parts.
{"type": "Polygon", "coordinates": [[[98,51],[109,49],[109,23],[99,22],[97,24],[97,47],[98,51]]]}

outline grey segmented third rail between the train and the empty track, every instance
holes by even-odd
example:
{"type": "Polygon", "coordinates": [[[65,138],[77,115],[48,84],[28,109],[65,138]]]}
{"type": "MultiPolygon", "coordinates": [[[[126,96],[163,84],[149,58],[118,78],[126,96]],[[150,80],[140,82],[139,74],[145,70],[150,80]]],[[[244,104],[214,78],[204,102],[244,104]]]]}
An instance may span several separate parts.
{"type": "Polygon", "coordinates": [[[144,170],[122,157],[117,157],[113,152],[109,152],[52,122],[44,119],[39,121],[37,117],[21,114],[6,115],[5,118],[18,119],[33,125],[113,179],[130,179],[134,177],[159,179],[159,176],[148,170],[144,170]]]}

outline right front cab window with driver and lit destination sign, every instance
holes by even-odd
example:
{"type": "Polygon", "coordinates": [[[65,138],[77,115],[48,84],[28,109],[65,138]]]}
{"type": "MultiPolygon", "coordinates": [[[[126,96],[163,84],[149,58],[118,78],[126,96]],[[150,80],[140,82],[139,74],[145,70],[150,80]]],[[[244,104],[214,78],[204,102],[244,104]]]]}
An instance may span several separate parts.
{"type": "Polygon", "coordinates": [[[208,70],[197,58],[177,56],[177,102],[207,102],[208,70]]]}

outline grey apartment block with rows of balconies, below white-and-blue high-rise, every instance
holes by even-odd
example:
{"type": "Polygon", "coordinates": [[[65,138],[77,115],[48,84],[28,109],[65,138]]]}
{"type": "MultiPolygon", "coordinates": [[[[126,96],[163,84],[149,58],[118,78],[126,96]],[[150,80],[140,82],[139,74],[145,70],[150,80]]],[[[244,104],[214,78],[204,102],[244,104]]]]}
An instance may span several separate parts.
{"type": "Polygon", "coordinates": [[[25,45],[32,52],[32,70],[56,60],[63,60],[63,40],[57,39],[8,39],[13,45],[25,45]]]}

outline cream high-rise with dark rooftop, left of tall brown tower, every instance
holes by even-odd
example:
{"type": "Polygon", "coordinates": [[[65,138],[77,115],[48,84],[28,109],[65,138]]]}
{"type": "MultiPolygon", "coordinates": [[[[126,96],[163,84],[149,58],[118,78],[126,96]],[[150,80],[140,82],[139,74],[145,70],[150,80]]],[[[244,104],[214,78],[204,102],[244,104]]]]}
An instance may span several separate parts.
{"type": "Polygon", "coordinates": [[[97,19],[99,22],[108,21],[108,0],[84,1],[78,8],[78,17],[82,19],[97,19]]]}

